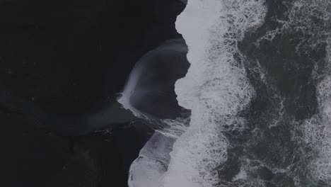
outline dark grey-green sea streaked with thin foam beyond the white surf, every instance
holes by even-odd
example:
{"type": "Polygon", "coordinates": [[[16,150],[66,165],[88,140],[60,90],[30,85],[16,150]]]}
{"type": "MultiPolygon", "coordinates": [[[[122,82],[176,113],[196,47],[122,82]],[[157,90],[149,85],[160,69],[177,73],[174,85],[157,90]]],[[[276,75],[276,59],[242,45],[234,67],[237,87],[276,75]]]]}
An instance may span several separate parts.
{"type": "Polygon", "coordinates": [[[266,5],[265,23],[238,43],[256,96],[240,114],[245,130],[226,132],[231,151],[221,181],[241,169],[247,179],[231,186],[331,186],[331,123],[315,120],[329,115],[331,83],[318,87],[330,74],[330,1],[266,5]]]}

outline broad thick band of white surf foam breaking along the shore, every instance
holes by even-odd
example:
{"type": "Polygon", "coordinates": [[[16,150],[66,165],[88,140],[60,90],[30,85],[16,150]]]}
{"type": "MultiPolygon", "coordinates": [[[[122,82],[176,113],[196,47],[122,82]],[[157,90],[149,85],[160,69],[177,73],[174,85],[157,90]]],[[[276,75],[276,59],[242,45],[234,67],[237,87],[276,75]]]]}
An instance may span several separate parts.
{"type": "Polygon", "coordinates": [[[190,128],[173,145],[163,186],[214,186],[216,166],[227,159],[224,125],[235,125],[254,90],[237,48],[248,28],[262,23],[264,1],[189,0],[178,16],[191,67],[175,85],[181,106],[192,110],[190,128]]]}

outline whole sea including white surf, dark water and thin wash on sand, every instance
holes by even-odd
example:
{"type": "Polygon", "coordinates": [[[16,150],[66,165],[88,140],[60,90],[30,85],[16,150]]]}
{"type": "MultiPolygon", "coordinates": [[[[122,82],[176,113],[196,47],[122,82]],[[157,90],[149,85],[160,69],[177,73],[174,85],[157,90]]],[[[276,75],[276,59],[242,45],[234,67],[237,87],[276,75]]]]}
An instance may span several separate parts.
{"type": "Polygon", "coordinates": [[[132,106],[149,88],[137,66],[119,101],[156,133],[129,186],[331,186],[331,1],[188,0],[176,28],[190,68],[174,89],[190,113],[132,106]]]}

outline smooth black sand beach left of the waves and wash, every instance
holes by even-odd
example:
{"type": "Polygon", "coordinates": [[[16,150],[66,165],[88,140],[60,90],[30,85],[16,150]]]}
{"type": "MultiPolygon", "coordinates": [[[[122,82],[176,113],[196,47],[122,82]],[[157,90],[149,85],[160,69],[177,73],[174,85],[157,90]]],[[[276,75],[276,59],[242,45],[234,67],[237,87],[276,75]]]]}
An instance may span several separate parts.
{"type": "Polygon", "coordinates": [[[184,6],[0,1],[0,186],[127,186],[152,130],[128,125],[125,111],[116,115],[126,123],[90,127],[86,119],[116,102],[142,55],[180,37],[174,22],[184,6]]]}

